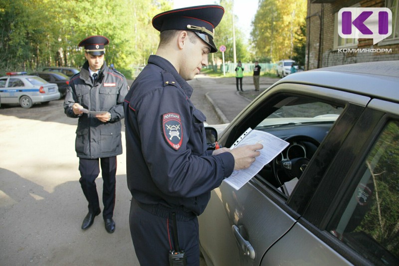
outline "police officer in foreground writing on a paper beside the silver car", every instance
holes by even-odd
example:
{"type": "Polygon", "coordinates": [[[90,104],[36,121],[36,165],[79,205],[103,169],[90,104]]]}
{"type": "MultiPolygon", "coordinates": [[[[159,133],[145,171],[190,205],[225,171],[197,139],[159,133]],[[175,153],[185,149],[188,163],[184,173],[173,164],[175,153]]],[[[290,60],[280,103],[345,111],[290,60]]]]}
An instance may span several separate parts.
{"type": "Polygon", "coordinates": [[[214,28],[223,13],[222,6],[202,5],[156,15],[152,23],[161,31],[157,52],[125,98],[130,232],[143,266],[168,265],[177,249],[184,251],[187,265],[199,265],[197,216],[210,191],[233,169],[249,167],[262,148],[206,151],[206,118],[190,100],[193,88],[187,81],[217,51],[214,28]]]}

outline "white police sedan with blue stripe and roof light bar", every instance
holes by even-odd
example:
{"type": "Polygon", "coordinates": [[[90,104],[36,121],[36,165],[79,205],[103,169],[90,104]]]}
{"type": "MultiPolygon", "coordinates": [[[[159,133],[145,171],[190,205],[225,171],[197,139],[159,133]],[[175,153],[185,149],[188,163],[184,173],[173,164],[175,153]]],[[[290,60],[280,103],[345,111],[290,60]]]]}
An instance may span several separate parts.
{"type": "Polygon", "coordinates": [[[6,75],[0,78],[0,104],[31,108],[33,104],[47,104],[60,99],[57,84],[26,75],[26,72],[8,72],[6,75]]]}

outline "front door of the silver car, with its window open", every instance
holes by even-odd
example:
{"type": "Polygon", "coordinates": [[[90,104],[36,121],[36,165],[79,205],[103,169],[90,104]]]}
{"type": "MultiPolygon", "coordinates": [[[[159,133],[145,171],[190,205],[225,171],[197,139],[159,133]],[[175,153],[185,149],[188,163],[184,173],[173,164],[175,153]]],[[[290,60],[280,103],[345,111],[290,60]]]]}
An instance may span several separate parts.
{"type": "MultiPolygon", "coordinates": [[[[267,263],[271,254],[269,251],[272,250],[272,255],[280,258],[280,265],[285,264],[287,253],[296,256],[298,249],[275,251],[273,247],[279,239],[285,239],[284,236],[300,221],[321,177],[329,168],[330,160],[326,156],[338,152],[340,143],[346,139],[370,100],[327,88],[282,83],[242,111],[222,133],[219,143],[229,147],[247,128],[256,129],[266,117],[272,114],[278,116],[274,112],[284,104],[292,103],[292,99],[302,99],[303,102],[318,99],[331,106],[336,104],[343,107],[342,113],[331,128],[324,130],[323,126],[320,127],[321,144],[290,196],[266,180],[262,171],[239,190],[222,182],[219,188],[212,191],[211,200],[199,217],[201,249],[209,265],[276,265],[267,263]],[[332,134],[331,129],[336,134],[332,134]]],[[[280,128],[273,130],[274,134],[284,134],[280,128]]],[[[296,132],[304,133],[304,130],[300,128],[296,132]]],[[[300,238],[294,237],[294,240],[297,245],[306,246],[300,238]]],[[[317,254],[316,258],[319,257],[328,258],[327,264],[330,265],[347,263],[332,249],[323,250],[317,254]]]]}

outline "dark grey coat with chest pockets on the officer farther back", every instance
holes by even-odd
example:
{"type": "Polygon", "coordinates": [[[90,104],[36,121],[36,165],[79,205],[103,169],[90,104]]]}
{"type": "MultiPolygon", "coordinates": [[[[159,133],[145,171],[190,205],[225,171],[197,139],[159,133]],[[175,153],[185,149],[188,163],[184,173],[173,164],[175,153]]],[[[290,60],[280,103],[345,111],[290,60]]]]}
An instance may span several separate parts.
{"type": "Polygon", "coordinates": [[[93,84],[88,68],[86,61],[80,73],[70,79],[64,100],[65,114],[79,118],[76,154],[85,159],[122,154],[121,119],[124,118],[123,101],[128,92],[127,81],[121,73],[108,68],[104,62],[93,84]],[[94,115],[85,113],[76,116],[72,111],[74,103],[90,111],[107,111],[111,113],[111,121],[103,123],[94,115]]]}

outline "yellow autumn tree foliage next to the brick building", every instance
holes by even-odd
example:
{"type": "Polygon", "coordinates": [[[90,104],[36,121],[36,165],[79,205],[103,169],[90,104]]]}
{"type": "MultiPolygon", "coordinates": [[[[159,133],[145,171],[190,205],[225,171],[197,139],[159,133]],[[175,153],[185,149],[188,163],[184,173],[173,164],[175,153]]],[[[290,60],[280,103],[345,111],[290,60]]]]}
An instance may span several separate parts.
{"type": "Polygon", "coordinates": [[[273,62],[292,58],[294,35],[305,23],[306,9],[306,0],[259,0],[251,32],[256,57],[273,62]]]}

